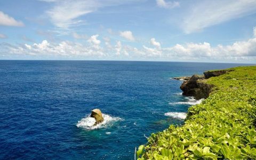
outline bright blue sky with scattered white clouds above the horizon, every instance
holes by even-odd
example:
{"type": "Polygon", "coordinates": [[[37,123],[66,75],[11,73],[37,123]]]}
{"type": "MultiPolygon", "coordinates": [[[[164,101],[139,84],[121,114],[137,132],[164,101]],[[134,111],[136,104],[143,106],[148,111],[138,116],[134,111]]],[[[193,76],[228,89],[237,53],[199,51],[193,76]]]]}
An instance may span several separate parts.
{"type": "Polygon", "coordinates": [[[256,63],[256,0],[0,0],[0,59],[256,63]]]}

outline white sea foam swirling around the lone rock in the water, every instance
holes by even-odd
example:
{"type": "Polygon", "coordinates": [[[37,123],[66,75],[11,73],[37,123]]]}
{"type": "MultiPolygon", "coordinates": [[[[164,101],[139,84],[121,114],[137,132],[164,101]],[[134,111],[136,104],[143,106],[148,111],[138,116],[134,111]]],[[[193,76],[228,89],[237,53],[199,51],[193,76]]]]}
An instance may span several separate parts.
{"type": "MultiPolygon", "coordinates": [[[[97,124],[94,126],[94,123],[96,122],[94,118],[90,117],[90,115],[88,115],[85,118],[82,118],[80,121],[77,122],[76,126],[77,127],[81,127],[84,128],[86,130],[95,130],[95,129],[100,129],[103,127],[107,127],[110,124],[112,124],[113,122],[116,121],[122,121],[122,118],[119,117],[111,117],[110,115],[107,114],[102,114],[104,121],[100,124],[97,124]]],[[[107,134],[107,133],[106,133],[107,134]]]]}

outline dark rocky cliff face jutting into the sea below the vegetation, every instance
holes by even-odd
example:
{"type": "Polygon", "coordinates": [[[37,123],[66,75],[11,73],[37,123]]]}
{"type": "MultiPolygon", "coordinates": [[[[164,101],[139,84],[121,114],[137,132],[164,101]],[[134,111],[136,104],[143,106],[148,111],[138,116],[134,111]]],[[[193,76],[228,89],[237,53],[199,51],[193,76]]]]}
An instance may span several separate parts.
{"type": "Polygon", "coordinates": [[[182,94],[186,96],[193,96],[197,100],[207,98],[212,91],[213,85],[206,84],[203,80],[226,74],[229,71],[233,70],[206,71],[204,76],[193,75],[181,84],[180,89],[183,91],[182,94]]]}

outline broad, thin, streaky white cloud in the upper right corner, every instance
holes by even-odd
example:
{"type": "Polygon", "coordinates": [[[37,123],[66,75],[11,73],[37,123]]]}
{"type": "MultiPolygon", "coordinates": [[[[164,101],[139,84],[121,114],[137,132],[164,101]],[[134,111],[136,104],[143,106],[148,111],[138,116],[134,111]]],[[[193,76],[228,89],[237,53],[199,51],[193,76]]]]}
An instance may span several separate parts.
{"type": "Polygon", "coordinates": [[[188,9],[181,27],[190,34],[253,13],[256,13],[256,1],[252,0],[202,1],[188,9]]]}

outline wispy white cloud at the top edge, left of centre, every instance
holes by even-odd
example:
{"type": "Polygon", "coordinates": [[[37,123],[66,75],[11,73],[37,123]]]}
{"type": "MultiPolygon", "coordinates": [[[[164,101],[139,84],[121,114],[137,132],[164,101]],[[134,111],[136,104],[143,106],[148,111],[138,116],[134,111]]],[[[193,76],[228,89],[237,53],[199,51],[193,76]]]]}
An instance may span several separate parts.
{"type": "Polygon", "coordinates": [[[131,3],[140,0],[41,0],[44,2],[53,3],[52,9],[46,11],[51,22],[62,29],[77,26],[85,23],[84,20],[78,19],[83,15],[95,12],[103,7],[115,6],[119,4],[131,3]]]}

